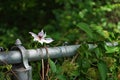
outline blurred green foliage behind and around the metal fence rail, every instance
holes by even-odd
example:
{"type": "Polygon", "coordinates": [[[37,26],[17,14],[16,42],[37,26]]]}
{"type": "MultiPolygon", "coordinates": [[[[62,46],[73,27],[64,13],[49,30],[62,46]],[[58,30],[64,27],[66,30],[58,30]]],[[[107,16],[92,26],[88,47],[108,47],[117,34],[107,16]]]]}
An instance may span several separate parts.
{"type": "MultiPolygon", "coordinates": [[[[56,59],[57,71],[49,71],[49,80],[120,80],[120,44],[113,47],[105,44],[120,43],[119,0],[0,1],[0,46],[5,50],[17,38],[26,48],[36,48],[29,32],[37,34],[41,29],[54,39],[50,46],[66,41],[69,45],[82,45],[75,56],[56,59]],[[98,47],[88,50],[88,43],[98,47]]],[[[36,69],[33,80],[39,80],[41,63],[31,65],[36,69]]],[[[4,68],[0,67],[0,75],[5,75],[4,68]]],[[[6,78],[10,80],[9,76],[6,78]]]]}

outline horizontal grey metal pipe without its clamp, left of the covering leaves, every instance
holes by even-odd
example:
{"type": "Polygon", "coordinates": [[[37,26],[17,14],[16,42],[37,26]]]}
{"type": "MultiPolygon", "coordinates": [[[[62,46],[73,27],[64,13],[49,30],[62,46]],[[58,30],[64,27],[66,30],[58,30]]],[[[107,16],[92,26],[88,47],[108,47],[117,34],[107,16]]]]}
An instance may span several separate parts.
{"type": "MultiPolygon", "coordinates": [[[[67,57],[74,55],[75,51],[79,48],[79,46],[80,45],[71,45],[71,46],[28,49],[25,51],[25,54],[27,54],[28,61],[37,61],[41,59],[46,59],[48,58],[48,55],[50,58],[67,57]]],[[[22,62],[22,56],[19,50],[0,52],[0,65],[17,64],[21,62],[22,62]]]]}

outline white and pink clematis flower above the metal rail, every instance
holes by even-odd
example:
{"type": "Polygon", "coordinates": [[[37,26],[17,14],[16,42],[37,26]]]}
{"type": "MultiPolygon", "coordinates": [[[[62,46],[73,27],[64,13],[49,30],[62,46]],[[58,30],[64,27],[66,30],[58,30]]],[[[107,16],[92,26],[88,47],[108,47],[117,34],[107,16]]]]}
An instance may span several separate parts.
{"type": "Polygon", "coordinates": [[[38,35],[33,32],[29,32],[29,33],[34,37],[33,39],[34,41],[38,41],[41,44],[53,42],[52,38],[46,38],[46,33],[44,33],[43,30],[41,30],[41,32],[39,32],[38,35]]]}

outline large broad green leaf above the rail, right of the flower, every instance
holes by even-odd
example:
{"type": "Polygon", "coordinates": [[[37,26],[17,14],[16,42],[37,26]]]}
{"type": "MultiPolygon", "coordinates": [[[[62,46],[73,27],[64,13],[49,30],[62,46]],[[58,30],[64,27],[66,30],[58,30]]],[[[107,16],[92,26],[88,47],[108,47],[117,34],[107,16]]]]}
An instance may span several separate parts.
{"type": "Polygon", "coordinates": [[[87,25],[86,23],[81,22],[81,23],[78,23],[77,26],[81,30],[85,31],[90,38],[93,38],[93,33],[92,33],[92,30],[89,28],[89,25],[87,25]]]}

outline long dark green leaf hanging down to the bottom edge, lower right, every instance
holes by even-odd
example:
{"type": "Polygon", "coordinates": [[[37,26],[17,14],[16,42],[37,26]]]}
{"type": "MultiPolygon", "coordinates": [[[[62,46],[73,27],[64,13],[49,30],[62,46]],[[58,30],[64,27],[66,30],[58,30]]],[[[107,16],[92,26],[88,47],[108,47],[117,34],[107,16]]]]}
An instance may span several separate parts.
{"type": "Polygon", "coordinates": [[[104,62],[99,62],[98,63],[98,70],[100,73],[101,80],[106,80],[107,77],[107,66],[104,62]]]}

